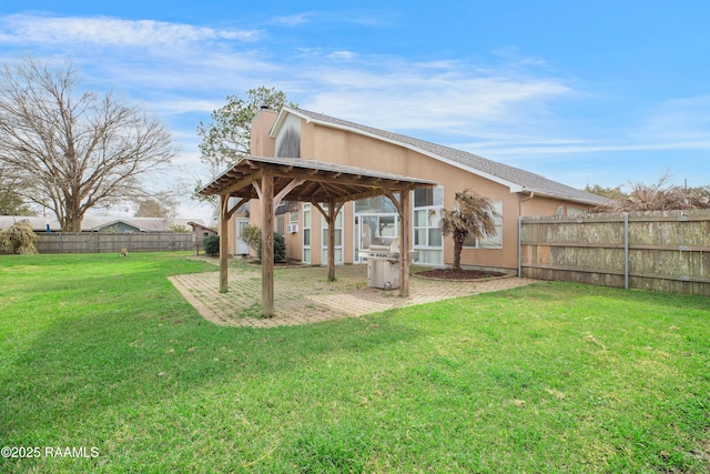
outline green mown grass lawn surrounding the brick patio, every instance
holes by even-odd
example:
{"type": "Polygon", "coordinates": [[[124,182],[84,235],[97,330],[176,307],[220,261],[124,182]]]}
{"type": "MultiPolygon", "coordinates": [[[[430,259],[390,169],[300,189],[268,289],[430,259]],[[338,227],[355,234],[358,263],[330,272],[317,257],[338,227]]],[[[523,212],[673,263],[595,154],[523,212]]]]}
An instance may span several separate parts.
{"type": "Polygon", "coordinates": [[[0,256],[0,445],[40,454],[0,472],[710,471],[707,297],[540,283],[221,327],[165,278],[214,271],[185,255],[0,256]]]}

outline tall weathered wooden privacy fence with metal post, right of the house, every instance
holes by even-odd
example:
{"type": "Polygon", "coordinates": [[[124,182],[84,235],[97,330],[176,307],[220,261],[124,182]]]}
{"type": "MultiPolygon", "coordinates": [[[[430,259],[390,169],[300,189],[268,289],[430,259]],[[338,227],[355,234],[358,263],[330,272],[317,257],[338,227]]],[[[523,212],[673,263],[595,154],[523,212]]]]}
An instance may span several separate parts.
{"type": "Polygon", "coordinates": [[[518,273],[710,296],[710,211],[521,218],[518,273]]]}

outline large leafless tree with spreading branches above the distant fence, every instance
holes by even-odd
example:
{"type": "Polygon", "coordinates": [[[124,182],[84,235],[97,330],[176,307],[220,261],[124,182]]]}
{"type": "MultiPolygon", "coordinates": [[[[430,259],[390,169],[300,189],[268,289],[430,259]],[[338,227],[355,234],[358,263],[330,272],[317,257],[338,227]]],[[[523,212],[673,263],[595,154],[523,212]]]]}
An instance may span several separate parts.
{"type": "Polygon", "coordinates": [[[175,154],[170,131],[112,92],[78,92],[71,65],[27,58],[0,71],[0,164],[18,193],[78,232],[84,213],[145,194],[175,154]]]}

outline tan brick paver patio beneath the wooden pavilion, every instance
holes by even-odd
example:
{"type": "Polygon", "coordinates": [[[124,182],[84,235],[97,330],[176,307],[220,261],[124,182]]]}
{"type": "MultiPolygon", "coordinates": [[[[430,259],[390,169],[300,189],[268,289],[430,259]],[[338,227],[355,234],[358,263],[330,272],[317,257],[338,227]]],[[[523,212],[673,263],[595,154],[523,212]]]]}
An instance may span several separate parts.
{"type": "Polygon", "coordinates": [[[358,316],[414,304],[523,286],[534,280],[505,278],[480,282],[409,279],[409,296],[398,290],[367,286],[366,265],[343,265],[337,281],[327,282],[326,268],[288,268],[274,272],[274,312],[261,316],[261,268],[230,265],[229,289],[220,293],[220,273],[192,273],[170,280],[204,319],[220,325],[275,327],[358,316]]]}

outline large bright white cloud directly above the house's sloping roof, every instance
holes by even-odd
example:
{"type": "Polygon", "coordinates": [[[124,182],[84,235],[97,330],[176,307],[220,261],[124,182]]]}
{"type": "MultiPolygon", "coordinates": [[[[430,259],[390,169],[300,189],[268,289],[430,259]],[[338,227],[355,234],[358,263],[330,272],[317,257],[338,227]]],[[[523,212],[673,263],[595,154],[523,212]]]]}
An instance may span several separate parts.
{"type": "Polygon", "coordinates": [[[342,65],[306,68],[306,80],[318,87],[304,108],[388,130],[475,134],[517,122],[524,112],[539,114],[574,92],[554,79],[487,74],[465,64],[342,65]]]}

